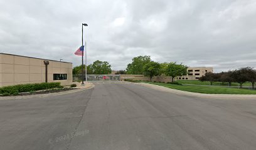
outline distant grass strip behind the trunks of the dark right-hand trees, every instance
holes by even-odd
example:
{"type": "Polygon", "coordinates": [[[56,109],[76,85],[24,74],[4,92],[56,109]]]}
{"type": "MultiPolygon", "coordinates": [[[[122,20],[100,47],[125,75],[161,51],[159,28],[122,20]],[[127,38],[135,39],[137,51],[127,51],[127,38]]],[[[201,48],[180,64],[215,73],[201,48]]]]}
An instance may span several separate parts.
{"type": "MultiPolygon", "coordinates": [[[[199,81],[199,80],[177,80],[176,83],[181,84],[196,84],[196,85],[211,85],[209,81],[199,81]]],[[[239,86],[239,83],[232,83],[231,86],[239,86]]],[[[213,86],[228,86],[228,83],[215,82],[213,86]]],[[[243,83],[243,86],[252,86],[251,83],[243,83]]]]}

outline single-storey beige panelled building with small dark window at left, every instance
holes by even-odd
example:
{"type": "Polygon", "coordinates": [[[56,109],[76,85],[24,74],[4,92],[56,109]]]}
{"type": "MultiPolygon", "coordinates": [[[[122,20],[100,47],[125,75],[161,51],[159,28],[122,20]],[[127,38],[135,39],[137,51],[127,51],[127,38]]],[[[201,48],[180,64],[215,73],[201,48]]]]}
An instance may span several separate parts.
{"type": "Polygon", "coordinates": [[[46,80],[72,84],[72,63],[0,53],[0,87],[46,80]]]}

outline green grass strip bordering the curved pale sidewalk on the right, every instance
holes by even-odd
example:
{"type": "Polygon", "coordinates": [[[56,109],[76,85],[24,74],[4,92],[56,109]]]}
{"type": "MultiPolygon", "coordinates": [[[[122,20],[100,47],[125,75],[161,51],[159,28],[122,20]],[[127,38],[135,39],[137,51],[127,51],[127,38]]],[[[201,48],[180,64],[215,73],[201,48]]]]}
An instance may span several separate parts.
{"type": "Polygon", "coordinates": [[[193,93],[205,93],[205,94],[256,94],[256,90],[253,89],[239,89],[239,88],[225,88],[216,86],[179,86],[168,83],[152,83],[147,81],[142,81],[142,83],[156,84],[159,86],[164,86],[171,89],[179,89],[181,91],[189,91],[193,93]]]}

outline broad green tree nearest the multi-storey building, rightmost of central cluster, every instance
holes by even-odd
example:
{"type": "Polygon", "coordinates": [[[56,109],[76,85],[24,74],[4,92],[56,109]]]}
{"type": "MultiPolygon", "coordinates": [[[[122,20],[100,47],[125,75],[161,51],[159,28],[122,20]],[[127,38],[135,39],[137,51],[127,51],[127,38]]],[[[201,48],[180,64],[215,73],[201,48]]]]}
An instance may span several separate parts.
{"type": "Polygon", "coordinates": [[[169,63],[164,71],[166,76],[171,76],[171,82],[173,83],[176,76],[183,76],[187,74],[188,67],[183,64],[176,64],[176,62],[169,63]]]}

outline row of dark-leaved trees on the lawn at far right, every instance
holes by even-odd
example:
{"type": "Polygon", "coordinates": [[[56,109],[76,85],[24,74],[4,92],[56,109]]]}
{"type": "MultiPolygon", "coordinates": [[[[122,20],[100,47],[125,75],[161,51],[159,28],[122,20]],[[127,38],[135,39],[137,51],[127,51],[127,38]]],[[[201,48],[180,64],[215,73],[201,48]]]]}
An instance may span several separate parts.
{"type": "Polygon", "coordinates": [[[254,89],[256,82],[256,70],[247,67],[222,73],[206,73],[205,76],[200,78],[200,81],[210,81],[211,85],[213,82],[223,82],[228,83],[229,86],[231,86],[232,83],[239,83],[240,88],[242,88],[243,83],[250,82],[254,89]]]}

